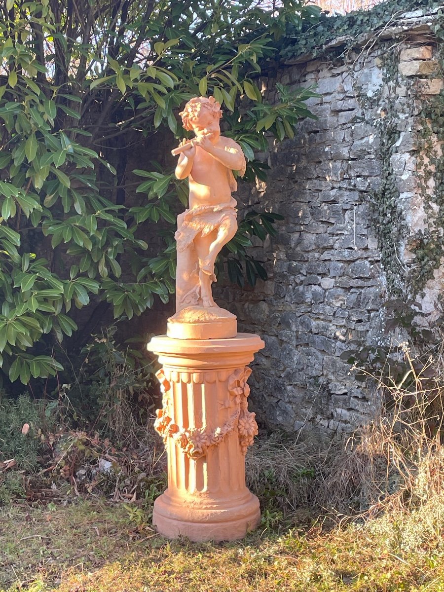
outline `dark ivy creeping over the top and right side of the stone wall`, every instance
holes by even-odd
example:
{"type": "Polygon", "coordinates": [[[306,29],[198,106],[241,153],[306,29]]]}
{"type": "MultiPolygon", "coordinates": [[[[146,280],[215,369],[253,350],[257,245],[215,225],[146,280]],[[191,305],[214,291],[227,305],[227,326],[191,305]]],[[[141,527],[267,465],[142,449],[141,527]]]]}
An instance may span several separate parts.
{"type": "MultiPolygon", "coordinates": [[[[332,60],[341,57],[344,63],[348,63],[349,50],[356,49],[360,36],[395,25],[397,19],[406,12],[422,9],[423,14],[427,15],[432,11],[436,12],[438,7],[439,2],[430,0],[388,0],[368,11],[361,10],[339,16],[322,14],[317,24],[306,24],[303,27],[302,35],[295,27],[288,27],[287,35],[281,40],[280,57],[285,61],[304,55],[313,58],[328,55],[332,60]],[[338,42],[337,47],[330,45],[326,49],[334,41],[338,42]]],[[[437,12],[434,27],[441,67],[439,76],[444,71],[444,21],[441,12],[437,12]]],[[[356,97],[364,112],[363,121],[378,128],[381,184],[378,189],[370,192],[369,205],[372,226],[381,250],[381,263],[387,278],[387,292],[392,298],[412,302],[424,289],[426,282],[433,278],[433,272],[439,268],[444,256],[444,158],[440,147],[440,143],[444,142],[444,94],[441,91],[435,96],[420,95],[414,81],[399,74],[398,54],[398,44],[393,44],[392,40],[381,49],[382,85],[371,98],[360,88],[351,65],[350,74],[355,78],[356,97]],[[399,113],[396,107],[397,86],[400,84],[406,85],[408,95],[420,102],[420,114],[417,117],[416,177],[419,186],[417,191],[423,198],[427,214],[426,229],[408,239],[405,213],[391,163],[400,137],[399,113]],[[384,97],[382,89],[385,90],[384,97]],[[375,108],[381,111],[381,117],[374,117],[372,111],[375,108]],[[403,262],[406,240],[409,249],[415,254],[414,265],[408,270],[403,262]]],[[[356,56],[353,62],[356,65],[356,56]]],[[[430,78],[436,76],[435,73],[430,78]]]]}

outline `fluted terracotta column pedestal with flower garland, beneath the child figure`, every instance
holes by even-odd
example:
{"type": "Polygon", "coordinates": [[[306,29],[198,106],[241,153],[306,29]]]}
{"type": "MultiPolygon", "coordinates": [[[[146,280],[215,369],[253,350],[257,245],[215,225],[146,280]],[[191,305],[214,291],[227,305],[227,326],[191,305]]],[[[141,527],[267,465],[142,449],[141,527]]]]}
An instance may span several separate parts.
{"type": "Polygon", "coordinates": [[[168,451],[168,489],[153,511],[162,535],[234,540],[258,525],[259,500],[245,486],[244,455],[258,433],[246,365],[263,346],[250,333],[149,343],[163,366],[155,428],[168,451]]]}

